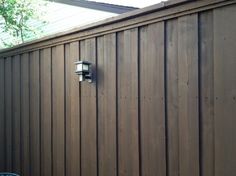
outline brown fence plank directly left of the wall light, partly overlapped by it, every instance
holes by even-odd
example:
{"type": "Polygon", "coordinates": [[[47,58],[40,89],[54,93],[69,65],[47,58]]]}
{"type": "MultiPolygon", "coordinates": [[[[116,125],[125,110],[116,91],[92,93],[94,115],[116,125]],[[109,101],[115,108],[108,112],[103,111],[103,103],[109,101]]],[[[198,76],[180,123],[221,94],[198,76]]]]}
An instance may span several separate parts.
{"type": "Polygon", "coordinates": [[[67,44],[66,62],[66,175],[80,176],[80,86],[75,74],[79,43],[67,44]]]}

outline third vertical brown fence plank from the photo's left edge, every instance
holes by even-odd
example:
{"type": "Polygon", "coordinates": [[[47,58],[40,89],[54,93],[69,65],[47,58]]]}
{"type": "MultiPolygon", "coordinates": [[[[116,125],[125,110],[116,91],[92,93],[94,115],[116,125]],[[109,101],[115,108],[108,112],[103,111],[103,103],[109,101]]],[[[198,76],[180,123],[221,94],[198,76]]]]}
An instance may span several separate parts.
{"type": "Polygon", "coordinates": [[[20,56],[12,59],[12,128],[13,128],[13,171],[21,173],[21,112],[20,112],[20,56]]]}

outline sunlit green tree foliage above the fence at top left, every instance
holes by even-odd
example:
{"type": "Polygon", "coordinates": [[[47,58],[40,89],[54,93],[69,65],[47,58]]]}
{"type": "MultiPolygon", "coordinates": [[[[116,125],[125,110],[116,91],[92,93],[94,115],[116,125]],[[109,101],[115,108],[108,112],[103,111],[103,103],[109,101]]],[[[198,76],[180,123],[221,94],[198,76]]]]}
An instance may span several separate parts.
{"type": "Polygon", "coordinates": [[[2,41],[5,46],[23,43],[42,33],[30,23],[40,20],[44,13],[45,1],[39,0],[0,0],[0,28],[9,36],[8,41],[2,41]]]}

